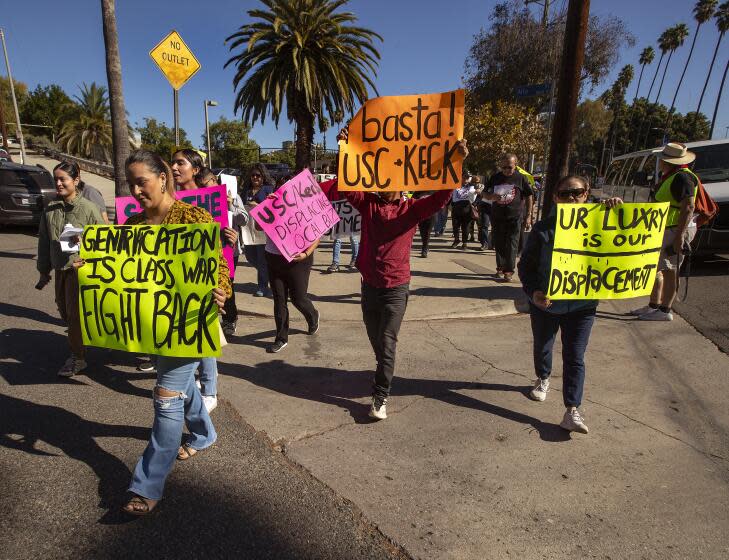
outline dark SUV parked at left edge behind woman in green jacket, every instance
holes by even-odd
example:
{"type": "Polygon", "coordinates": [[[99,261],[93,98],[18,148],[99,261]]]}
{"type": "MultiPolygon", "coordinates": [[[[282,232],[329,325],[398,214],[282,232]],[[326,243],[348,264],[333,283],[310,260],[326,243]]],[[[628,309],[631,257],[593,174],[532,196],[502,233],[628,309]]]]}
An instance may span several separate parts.
{"type": "Polygon", "coordinates": [[[37,225],[43,209],[55,199],[47,169],[0,161],[0,224],[37,225]]]}

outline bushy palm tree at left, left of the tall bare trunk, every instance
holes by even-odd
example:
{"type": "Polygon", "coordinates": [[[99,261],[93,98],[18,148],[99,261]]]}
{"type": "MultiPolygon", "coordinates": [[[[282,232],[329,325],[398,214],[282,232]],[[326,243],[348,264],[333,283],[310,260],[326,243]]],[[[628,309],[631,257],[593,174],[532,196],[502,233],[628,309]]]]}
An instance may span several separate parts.
{"type": "MultiPolygon", "coordinates": [[[[109,161],[112,147],[111,111],[104,86],[83,84],[76,116],[61,128],[61,149],[90,159],[109,161]]],[[[128,143],[127,136],[127,143],[128,143]]]]}

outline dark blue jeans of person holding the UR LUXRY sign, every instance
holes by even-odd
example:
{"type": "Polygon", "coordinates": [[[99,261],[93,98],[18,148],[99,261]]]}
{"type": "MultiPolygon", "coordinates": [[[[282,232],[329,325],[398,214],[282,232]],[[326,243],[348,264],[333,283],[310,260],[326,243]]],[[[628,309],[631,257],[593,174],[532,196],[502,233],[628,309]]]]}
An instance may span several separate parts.
{"type": "Polygon", "coordinates": [[[585,351],[595,323],[595,309],[557,315],[529,305],[534,336],[534,370],[539,379],[552,373],[552,348],[562,330],[562,399],[566,407],[582,404],[585,385],[585,351]]]}

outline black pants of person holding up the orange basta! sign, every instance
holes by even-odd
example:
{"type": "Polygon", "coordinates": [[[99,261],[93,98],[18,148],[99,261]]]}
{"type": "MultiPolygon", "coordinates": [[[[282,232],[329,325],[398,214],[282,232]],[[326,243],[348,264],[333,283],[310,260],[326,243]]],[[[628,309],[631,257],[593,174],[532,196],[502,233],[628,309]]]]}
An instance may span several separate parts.
{"type": "Polygon", "coordinates": [[[378,397],[387,398],[390,394],[395,374],[397,335],[405,316],[409,294],[409,284],[393,288],[374,288],[362,284],[362,318],[377,360],[372,392],[378,397]]]}

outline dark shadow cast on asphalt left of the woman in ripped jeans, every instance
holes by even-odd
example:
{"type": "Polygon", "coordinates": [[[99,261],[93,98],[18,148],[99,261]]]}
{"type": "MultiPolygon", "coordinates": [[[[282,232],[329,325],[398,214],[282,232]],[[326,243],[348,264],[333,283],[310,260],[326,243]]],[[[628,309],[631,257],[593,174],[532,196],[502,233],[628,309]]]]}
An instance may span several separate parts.
{"type": "Polygon", "coordinates": [[[129,484],[131,473],[114,455],[104,451],[97,437],[149,439],[149,429],[99,424],[59,408],[0,395],[0,446],[32,455],[50,455],[35,448],[42,441],[89,466],[99,479],[101,507],[111,507],[129,484]]]}

